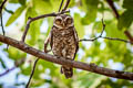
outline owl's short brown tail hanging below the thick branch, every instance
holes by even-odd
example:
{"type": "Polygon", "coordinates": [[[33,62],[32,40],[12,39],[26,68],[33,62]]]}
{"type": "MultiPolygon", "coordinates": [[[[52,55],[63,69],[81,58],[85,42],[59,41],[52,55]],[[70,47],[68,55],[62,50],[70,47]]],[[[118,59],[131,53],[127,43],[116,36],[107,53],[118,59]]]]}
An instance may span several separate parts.
{"type": "Polygon", "coordinates": [[[73,76],[73,68],[61,66],[61,74],[64,74],[65,78],[71,78],[73,76]]]}

